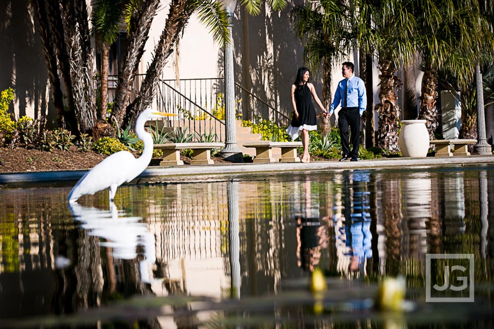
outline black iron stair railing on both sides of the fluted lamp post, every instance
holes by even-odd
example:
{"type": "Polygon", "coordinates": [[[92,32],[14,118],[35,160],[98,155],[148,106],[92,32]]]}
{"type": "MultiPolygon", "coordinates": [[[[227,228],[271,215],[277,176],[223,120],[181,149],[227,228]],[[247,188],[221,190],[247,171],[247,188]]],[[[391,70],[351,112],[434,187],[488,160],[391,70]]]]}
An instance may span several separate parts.
{"type": "MultiPolygon", "coordinates": [[[[113,101],[116,77],[108,78],[108,100],[113,101]]],[[[130,101],[135,97],[144,75],[137,75],[130,101]]],[[[192,141],[208,138],[224,141],[225,137],[225,79],[202,78],[159,80],[153,107],[178,116],[166,124],[167,129],[190,135],[192,141]],[[193,135],[193,136],[192,136],[193,135]]],[[[286,138],[284,128],[290,118],[235,83],[235,117],[243,126],[261,133],[262,139],[279,141],[286,138]]]]}

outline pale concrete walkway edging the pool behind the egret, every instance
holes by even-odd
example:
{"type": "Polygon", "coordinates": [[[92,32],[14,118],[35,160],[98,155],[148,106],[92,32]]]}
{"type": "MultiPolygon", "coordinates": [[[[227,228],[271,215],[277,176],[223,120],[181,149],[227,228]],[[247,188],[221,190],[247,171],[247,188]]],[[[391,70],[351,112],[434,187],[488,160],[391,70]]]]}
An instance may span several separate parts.
{"type": "MultiPolygon", "coordinates": [[[[377,160],[359,160],[358,162],[317,161],[311,163],[243,163],[214,165],[183,165],[172,167],[148,167],[138,178],[179,177],[191,175],[222,175],[257,172],[296,172],[310,170],[347,170],[380,168],[418,168],[435,166],[494,165],[494,156],[469,156],[450,158],[385,158],[377,160]]],[[[77,181],[87,171],[43,171],[0,173],[0,185],[15,183],[55,183],[77,181]]]]}

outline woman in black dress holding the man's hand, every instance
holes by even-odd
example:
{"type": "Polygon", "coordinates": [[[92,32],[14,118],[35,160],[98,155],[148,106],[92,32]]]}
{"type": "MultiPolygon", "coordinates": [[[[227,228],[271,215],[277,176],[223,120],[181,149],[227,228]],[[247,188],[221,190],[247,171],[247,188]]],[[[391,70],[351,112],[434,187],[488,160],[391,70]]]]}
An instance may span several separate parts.
{"type": "Polygon", "coordinates": [[[310,72],[308,68],[301,67],[298,69],[295,82],[292,84],[291,96],[293,105],[293,119],[286,132],[295,140],[298,135],[302,136],[302,145],[304,146],[304,155],[302,162],[308,163],[311,160],[309,155],[309,130],[316,130],[316,110],[312,104],[312,97],[321,111],[326,115],[328,112],[317,97],[314,85],[309,82],[310,72]],[[302,133],[300,134],[300,130],[302,133]]]}

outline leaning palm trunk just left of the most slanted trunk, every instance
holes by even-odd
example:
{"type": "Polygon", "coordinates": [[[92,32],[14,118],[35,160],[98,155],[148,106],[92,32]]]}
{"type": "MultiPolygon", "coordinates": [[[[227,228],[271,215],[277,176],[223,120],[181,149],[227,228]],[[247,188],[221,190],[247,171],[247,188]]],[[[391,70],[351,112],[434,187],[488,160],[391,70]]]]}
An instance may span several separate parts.
{"type": "Polygon", "coordinates": [[[121,73],[118,77],[117,91],[112,110],[120,126],[123,123],[134,76],[139,68],[140,59],[144,53],[144,46],[148,39],[149,29],[151,28],[151,22],[156,14],[159,3],[160,0],[139,2],[130,18],[127,51],[121,73]]]}

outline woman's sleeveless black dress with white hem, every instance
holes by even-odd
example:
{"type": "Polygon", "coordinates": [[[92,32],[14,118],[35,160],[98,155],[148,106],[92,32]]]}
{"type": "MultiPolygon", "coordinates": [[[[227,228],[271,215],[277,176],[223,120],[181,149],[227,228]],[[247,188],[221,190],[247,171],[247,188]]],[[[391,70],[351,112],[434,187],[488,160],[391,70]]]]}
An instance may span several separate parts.
{"type": "Polygon", "coordinates": [[[292,123],[286,132],[295,140],[302,129],[316,130],[316,110],[312,104],[312,93],[307,83],[297,85],[295,88],[295,105],[297,106],[298,119],[293,115],[292,123]]]}

